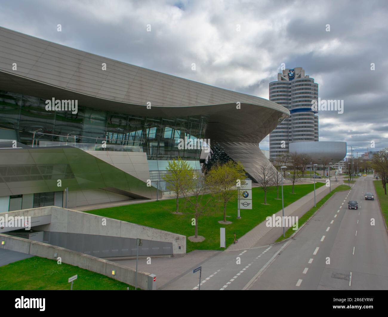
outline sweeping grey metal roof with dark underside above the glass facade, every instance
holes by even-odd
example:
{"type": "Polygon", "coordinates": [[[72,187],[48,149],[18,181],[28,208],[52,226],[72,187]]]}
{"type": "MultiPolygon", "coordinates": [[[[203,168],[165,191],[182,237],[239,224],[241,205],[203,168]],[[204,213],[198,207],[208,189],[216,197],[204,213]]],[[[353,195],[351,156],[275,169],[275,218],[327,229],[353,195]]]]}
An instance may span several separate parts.
{"type": "Polygon", "coordinates": [[[142,116],[210,116],[206,137],[260,142],[289,111],[213,87],[0,28],[0,89],[142,116]],[[17,70],[12,70],[12,64],[17,70]],[[106,70],[102,70],[106,63],[106,70]],[[151,102],[151,109],[147,109],[151,102]],[[236,103],[241,109],[236,109],[236,103]]]}

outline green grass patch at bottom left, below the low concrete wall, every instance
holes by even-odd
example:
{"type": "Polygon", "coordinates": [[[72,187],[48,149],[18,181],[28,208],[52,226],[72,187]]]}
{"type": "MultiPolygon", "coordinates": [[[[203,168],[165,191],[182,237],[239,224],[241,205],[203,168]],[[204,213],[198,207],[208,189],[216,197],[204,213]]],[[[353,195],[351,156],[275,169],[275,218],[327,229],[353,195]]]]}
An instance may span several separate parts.
{"type": "Polygon", "coordinates": [[[78,279],[73,283],[73,290],[126,290],[127,287],[131,290],[135,289],[105,275],[69,264],[57,264],[56,260],[38,256],[0,267],[0,289],[69,290],[71,283],[68,283],[68,278],[76,274],[78,279]]]}

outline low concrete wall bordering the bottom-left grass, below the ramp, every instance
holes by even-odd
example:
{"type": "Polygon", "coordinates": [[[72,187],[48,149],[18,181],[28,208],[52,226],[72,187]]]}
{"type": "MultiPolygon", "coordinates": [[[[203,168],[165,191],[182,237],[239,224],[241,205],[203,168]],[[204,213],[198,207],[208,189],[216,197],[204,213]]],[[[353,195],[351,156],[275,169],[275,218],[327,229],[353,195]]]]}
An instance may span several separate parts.
{"type": "MultiPolygon", "coordinates": [[[[42,258],[55,259],[54,254],[57,253],[62,259],[62,263],[85,268],[86,270],[96,272],[108,277],[112,277],[112,270],[116,270],[114,279],[124,282],[128,285],[135,285],[136,272],[129,267],[96,258],[92,255],[86,255],[80,252],[71,251],[69,249],[53,246],[37,241],[31,241],[24,238],[0,234],[1,241],[5,241],[4,245],[0,244],[0,248],[23,252],[29,255],[40,256],[42,258]]],[[[137,286],[141,289],[148,289],[149,273],[137,272],[137,286]]]]}

